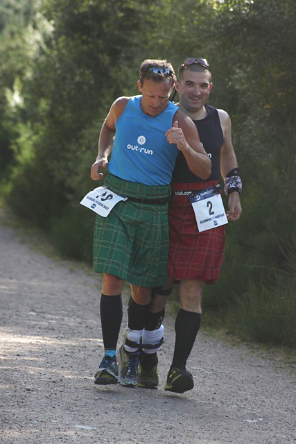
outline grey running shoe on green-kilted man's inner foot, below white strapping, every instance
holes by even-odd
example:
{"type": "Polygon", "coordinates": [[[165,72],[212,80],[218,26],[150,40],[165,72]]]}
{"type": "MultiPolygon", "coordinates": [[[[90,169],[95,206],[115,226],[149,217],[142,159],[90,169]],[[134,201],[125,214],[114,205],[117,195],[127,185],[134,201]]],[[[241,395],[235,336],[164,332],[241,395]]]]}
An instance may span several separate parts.
{"type": "Polygon", "coordinates": [[[116,357],[119,366],[119,384],[125,387],[137,387],[140,352],[126,352],[121,345],[117,349],[116,357]]]}

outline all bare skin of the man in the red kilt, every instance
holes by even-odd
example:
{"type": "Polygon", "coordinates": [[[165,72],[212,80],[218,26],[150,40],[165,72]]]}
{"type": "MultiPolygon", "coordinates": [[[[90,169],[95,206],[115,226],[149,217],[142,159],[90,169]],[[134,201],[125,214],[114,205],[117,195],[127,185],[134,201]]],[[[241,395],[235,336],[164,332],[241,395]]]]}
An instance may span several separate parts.
{"type": "MultiPolygon", "coordinates": [[[[205,69],[202,72],[184,69],[182,78],[175,83],[175,88],[179,93],[180,103],[178,106],[184,114],[193,120],[200,120],[207,116],[204,107],[213,84],[211,83],[211,73],[205,69]]],[[[232,145],[231,121],[229,115],[224,110],[218,110],[221,128],[223,130],[224,141],[221,150],[220,169],[223,179],[229,171],[237,167],[236,155],[232,145]]],[[[198,176],[198,175],[197,175],[198,176]]],[[[239,194],[234,191],[228,198],[229,211],[227,219],[238,221],[241,216],[241,201],[239,194]]],[[[168,278],[165,289],[171,288],[173,278],[168,278]]],[[[202,313],[202,292],[204,280],[181,280],[180,281],[180,308],[193,313],[202,313]]],[[[168,297],[157,295],[153,298],[152,311],[157,313],[166,305],[168,297]]]]}

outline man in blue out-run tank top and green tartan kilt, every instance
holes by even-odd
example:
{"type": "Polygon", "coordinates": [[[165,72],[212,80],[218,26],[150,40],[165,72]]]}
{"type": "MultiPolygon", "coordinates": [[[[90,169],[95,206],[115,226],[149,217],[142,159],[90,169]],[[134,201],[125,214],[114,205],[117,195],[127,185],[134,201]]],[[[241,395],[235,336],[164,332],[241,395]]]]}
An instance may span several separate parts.
{"type": "Polygon", "coordinates": [[[127,200],[116,203],[107,217],[96,216],[94,270],[103,273],[100,307],[105,352],[95,384],[137,386],[141,347],[159,349],[162,338],[158,336],[146,344],[140,342],[144,326],[154,316],[151,288],[166,282],[168,200],[177,153],[182,151],[194,174],[206,179],[211,171],[194,123],[168,101],[174,83],[173,67],[166,60],[144,60],[138,82],[141,94],[116,99],[101,128],[91,177],[101,178],[114,139],[103,199],[123,196],[127,200]],[[117,368],[125,281],[130,282],[132,298],[117,368]]]}

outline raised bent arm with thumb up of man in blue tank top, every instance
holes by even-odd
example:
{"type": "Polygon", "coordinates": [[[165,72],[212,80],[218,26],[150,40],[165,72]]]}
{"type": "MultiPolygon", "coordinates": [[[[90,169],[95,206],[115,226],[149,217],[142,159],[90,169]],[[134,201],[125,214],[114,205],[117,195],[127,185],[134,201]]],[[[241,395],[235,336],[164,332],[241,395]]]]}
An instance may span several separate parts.
{"type": "Polygon", "coordinates": [[[178,110],[173,119],[173,128],[169,128],[166,137],[170,144],[176,144],[182,151],[189,169],[195,176],[205,180],[211,174],[211,160],[204,151],[195,124],[183,112],[178,110]]]}

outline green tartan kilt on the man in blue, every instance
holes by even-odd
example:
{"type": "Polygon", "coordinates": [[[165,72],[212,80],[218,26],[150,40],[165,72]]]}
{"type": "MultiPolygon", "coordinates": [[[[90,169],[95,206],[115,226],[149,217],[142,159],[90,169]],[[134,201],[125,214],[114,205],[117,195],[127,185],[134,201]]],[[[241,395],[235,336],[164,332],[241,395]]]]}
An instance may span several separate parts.
{"type": "MultiPolygon", "coordinates": [[[[169,185],[151,187],[109,174],[107,188],[134,198],[164,198],[169,185]]],[[[141,287],[166,282],[168,262],[168,204],[125,200],[107,217],[97,215],[94,227],[94,271],[109,273],[141,287]]]]}

